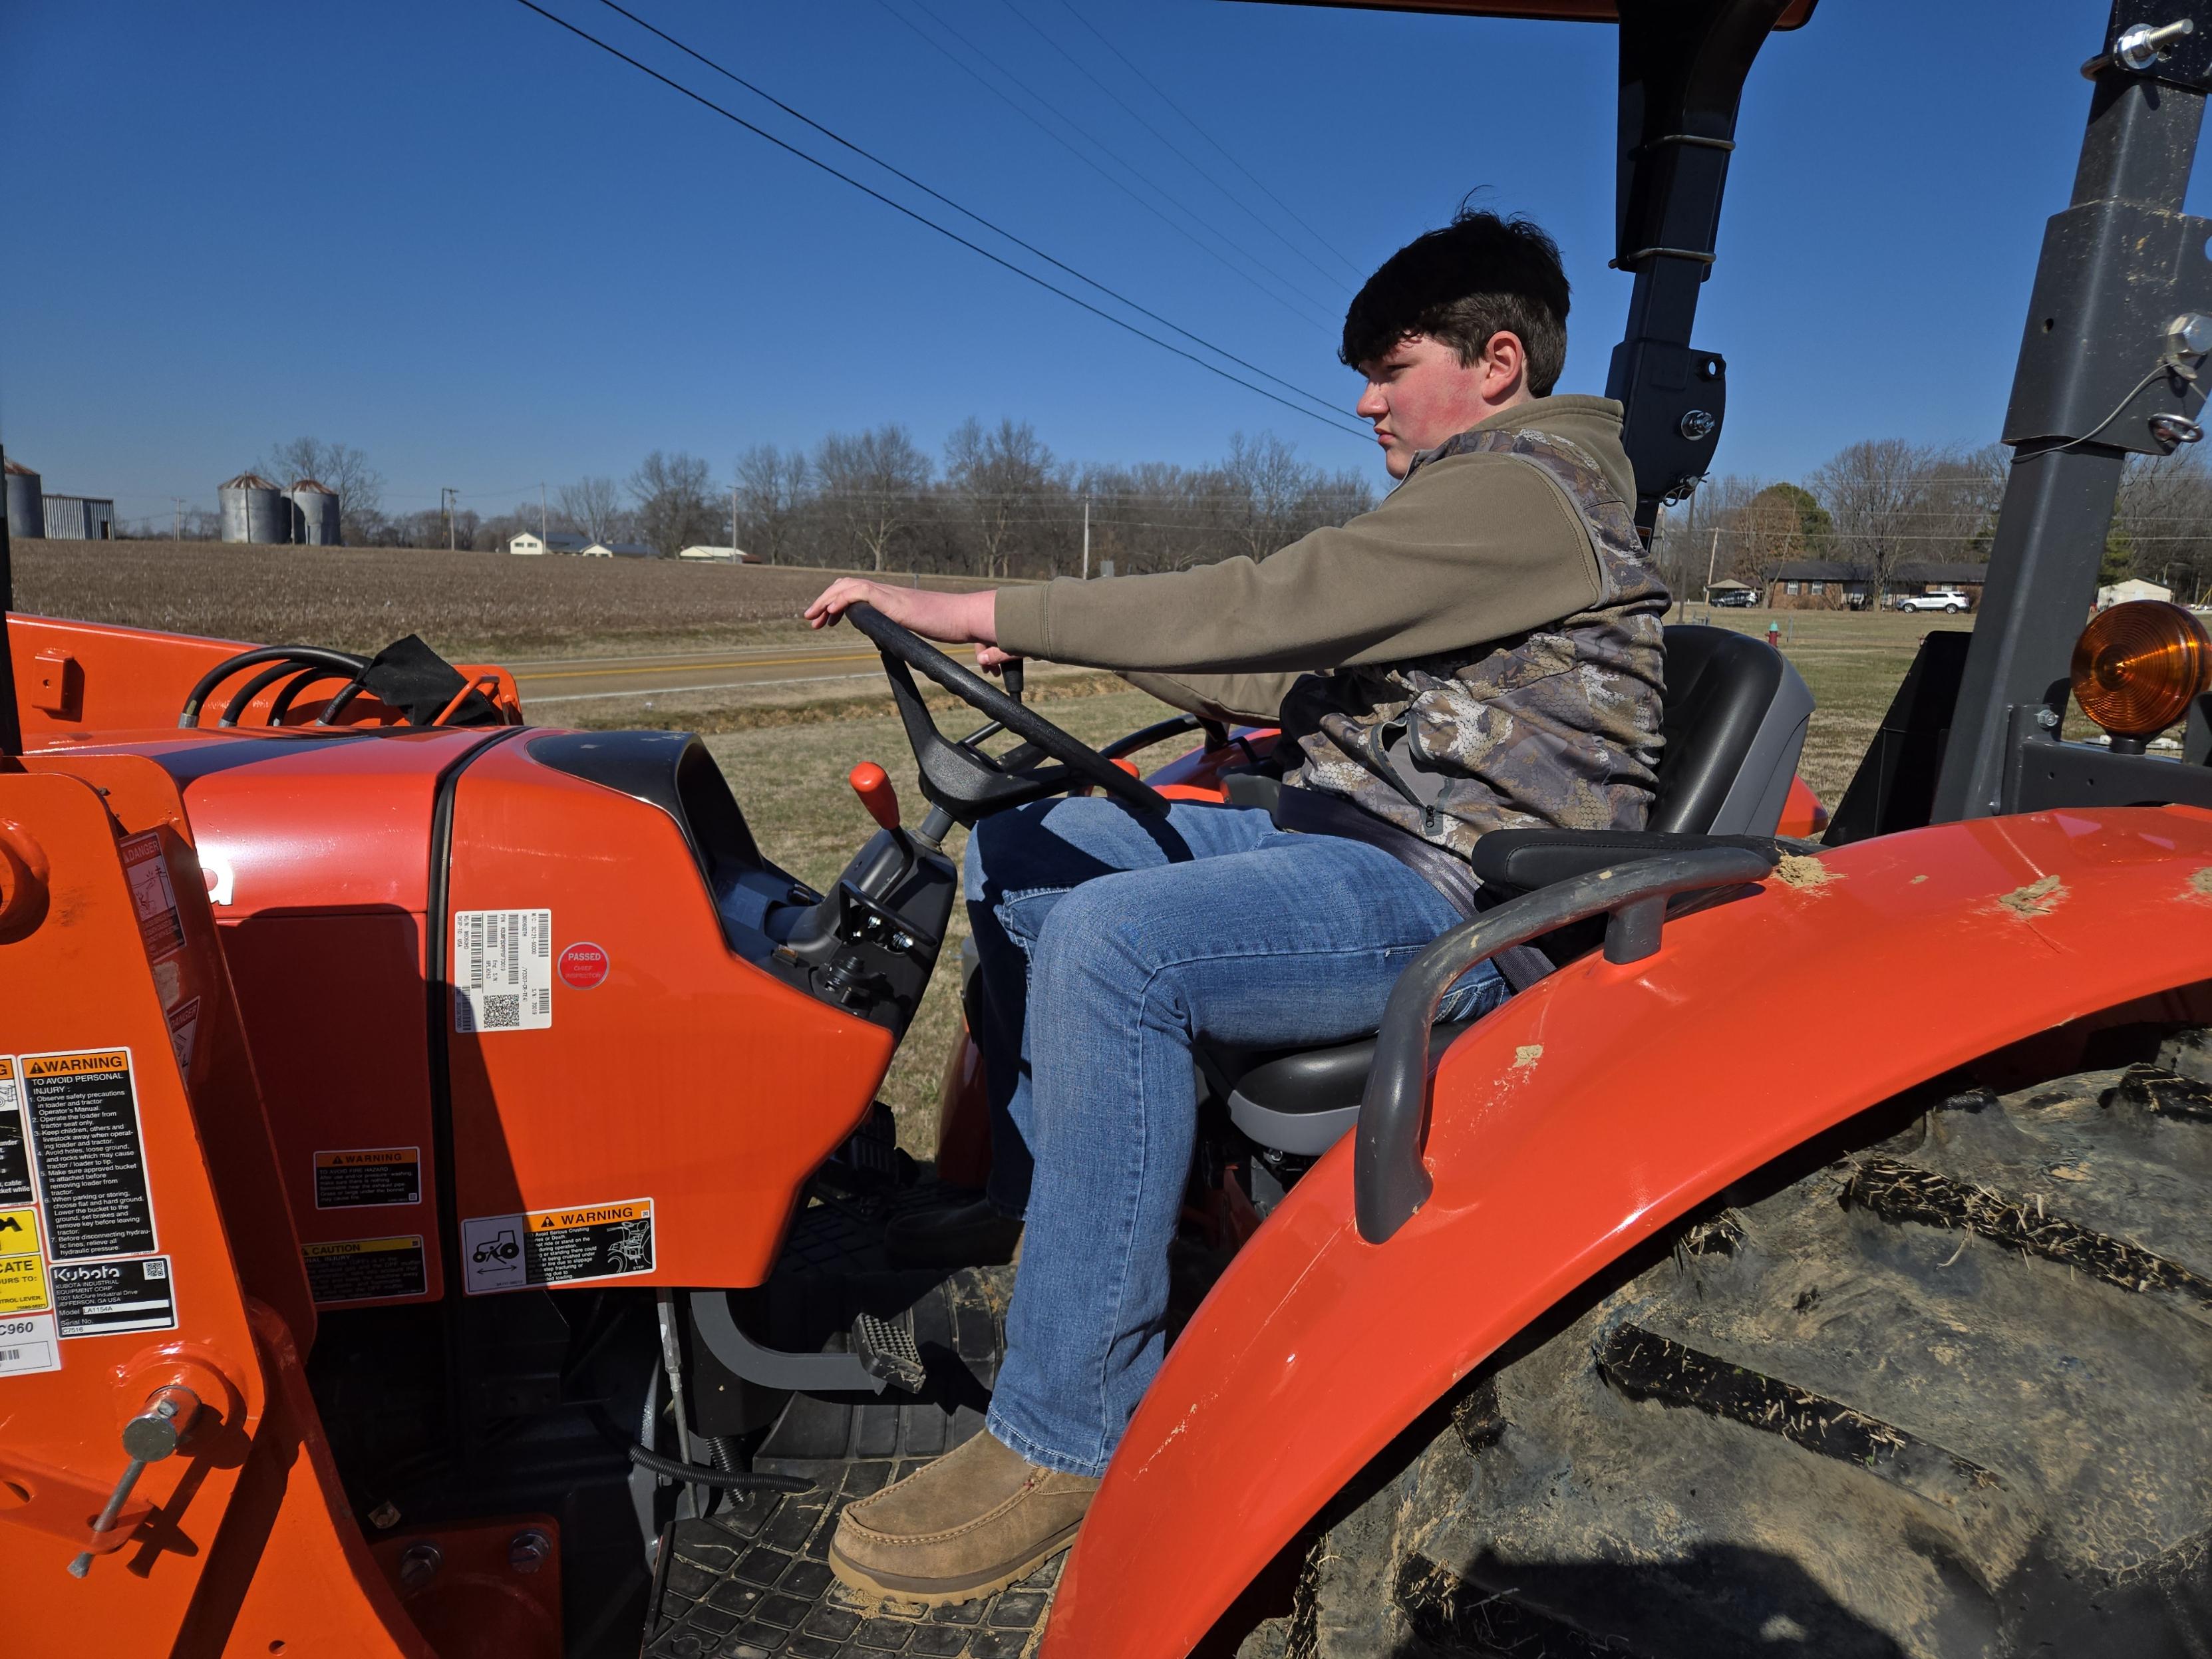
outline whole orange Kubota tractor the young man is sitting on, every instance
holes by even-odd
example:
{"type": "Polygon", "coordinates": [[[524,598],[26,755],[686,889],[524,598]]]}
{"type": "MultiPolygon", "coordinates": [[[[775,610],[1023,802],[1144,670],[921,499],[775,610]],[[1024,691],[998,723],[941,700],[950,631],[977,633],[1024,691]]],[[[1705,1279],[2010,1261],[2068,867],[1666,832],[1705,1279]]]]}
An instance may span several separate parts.
{"type": "MultiPolygon", "coordinates": [[[[2179,2],[2093,42],[1978,626],[1825,838],[1803,684],[1672,630],[1650,832],[1498,832],[1500,902],[1371,1040],[1201,1055],[1210,1287],[1075,1551],[967,1608],[823,1562],[1000,1352],[1004,1276],[880,1248],[940,843],[1265,787],[1265,734],[1139,781],[1194,721],[1091,750],[856,613],[931,812],[856,772],[878,830],[812,891],[697,739],[531,728],[498,668],[9,615],[9,1652],[2203,1652],[2212,650],[2174,606],[2081,630],[2212,354],[2179,2]],[[989,723],[940,734],[916,670],[989,723]],[[1433,1024],[1504,953],[1526,989],[1433,1024]]],[[[1619,22],[1648,526],[1719,434],[1743,75],[1809,0],[1436,9],[1619,22]]],[[[956,1088],[949,1172],[971,1130],[956,1088]]]]}

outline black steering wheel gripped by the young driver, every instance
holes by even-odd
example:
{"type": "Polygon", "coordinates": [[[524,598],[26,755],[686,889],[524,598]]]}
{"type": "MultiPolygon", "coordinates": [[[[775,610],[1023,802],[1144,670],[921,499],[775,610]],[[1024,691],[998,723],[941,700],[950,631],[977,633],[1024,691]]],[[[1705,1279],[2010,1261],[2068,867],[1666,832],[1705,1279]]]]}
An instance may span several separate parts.
{"type": "Polygon", "coordinates": [[[883,672],[891,681],[898,719],[914,743],[922,768],[922,794],[953,821],[973,825],[993,812],[1020,807],[1091,783],[1137,812],[1166,812],[1168,799],[1108,761],[1088,743],[1068,737],[1018,697],[1000,690],[971,668],[962,668],[911,628],[902,628],[872,604],[845,606],[852,622],[883,653],[883,672]],[[938,730],[920,686],[909,670],[949,690],[989,719],[962,739],[938,730]],[[987,754],[982,743],[1000,732],[1013,732],[1022,745],[1006,754],[987,754]],[[1040,761],[1060,765],[1040,765],[1040,761]]]}

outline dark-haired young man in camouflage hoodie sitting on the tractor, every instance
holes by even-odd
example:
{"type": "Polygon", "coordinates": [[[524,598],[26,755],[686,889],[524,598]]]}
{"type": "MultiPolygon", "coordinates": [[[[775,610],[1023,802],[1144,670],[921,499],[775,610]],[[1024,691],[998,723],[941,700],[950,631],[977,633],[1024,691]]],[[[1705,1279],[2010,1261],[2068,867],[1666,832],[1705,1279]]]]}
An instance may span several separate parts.
{"type": "MultiPolygon", "coordinates": [[[[1464,212],[1345,316],[1358,414],[1402,480],[1265,562],[984,593],[832,584],[975,644],[1124,672],[1179,708],[1281,723],[1274,814],[1104,796],[978,823],[967,852],[991,1199],[1029,1217],[989,1431],[845,1511],[832,1564],[920,1601],[987,1595],[1062,1548],[1166,1347],[1194,1137],[1192,1044],[1343,1042],[1473,907],[1498,827],[1639,830],[1668,595],[1644,562],[1621,407],[1553,396],[1568,283],[1526,221],[1464,212]]],[[[1447,1013],[1504,1000],[1491,964],[1447,1013]]],[[[982,1217],[989,1225],[989,1214],[982,1217]]],[[[969,1219],[973,1223],[973,1217],[969,1219]]],[[[1000,1223],[1006,1225],[1006,1223],[1000,1223]]]]}

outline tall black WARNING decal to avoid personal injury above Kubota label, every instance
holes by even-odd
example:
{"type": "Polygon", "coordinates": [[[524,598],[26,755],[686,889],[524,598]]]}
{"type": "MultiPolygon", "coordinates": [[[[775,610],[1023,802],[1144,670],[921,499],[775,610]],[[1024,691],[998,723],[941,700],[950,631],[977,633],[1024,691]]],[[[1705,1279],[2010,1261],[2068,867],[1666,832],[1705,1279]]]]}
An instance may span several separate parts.
{"type": "Polygon", "coordinates": [[[24,1055],[22,1095],[46,1199],[46,1252],[55,1261],[150,1252],[153,1197],[131,1051],[24,1055]]]}

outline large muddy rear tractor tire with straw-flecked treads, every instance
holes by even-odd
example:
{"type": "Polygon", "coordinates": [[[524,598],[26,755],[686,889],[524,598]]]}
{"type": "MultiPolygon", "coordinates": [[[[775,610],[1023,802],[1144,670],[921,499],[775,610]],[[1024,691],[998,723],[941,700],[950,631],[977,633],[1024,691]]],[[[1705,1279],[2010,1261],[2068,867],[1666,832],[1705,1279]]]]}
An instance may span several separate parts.
{"type": "Polygon", "coordinates": [[[1378,1460],[1245,1650],[2212,1652],[2208,1084],[2188,1033],[1730,1194],[1378,1460]]]}

